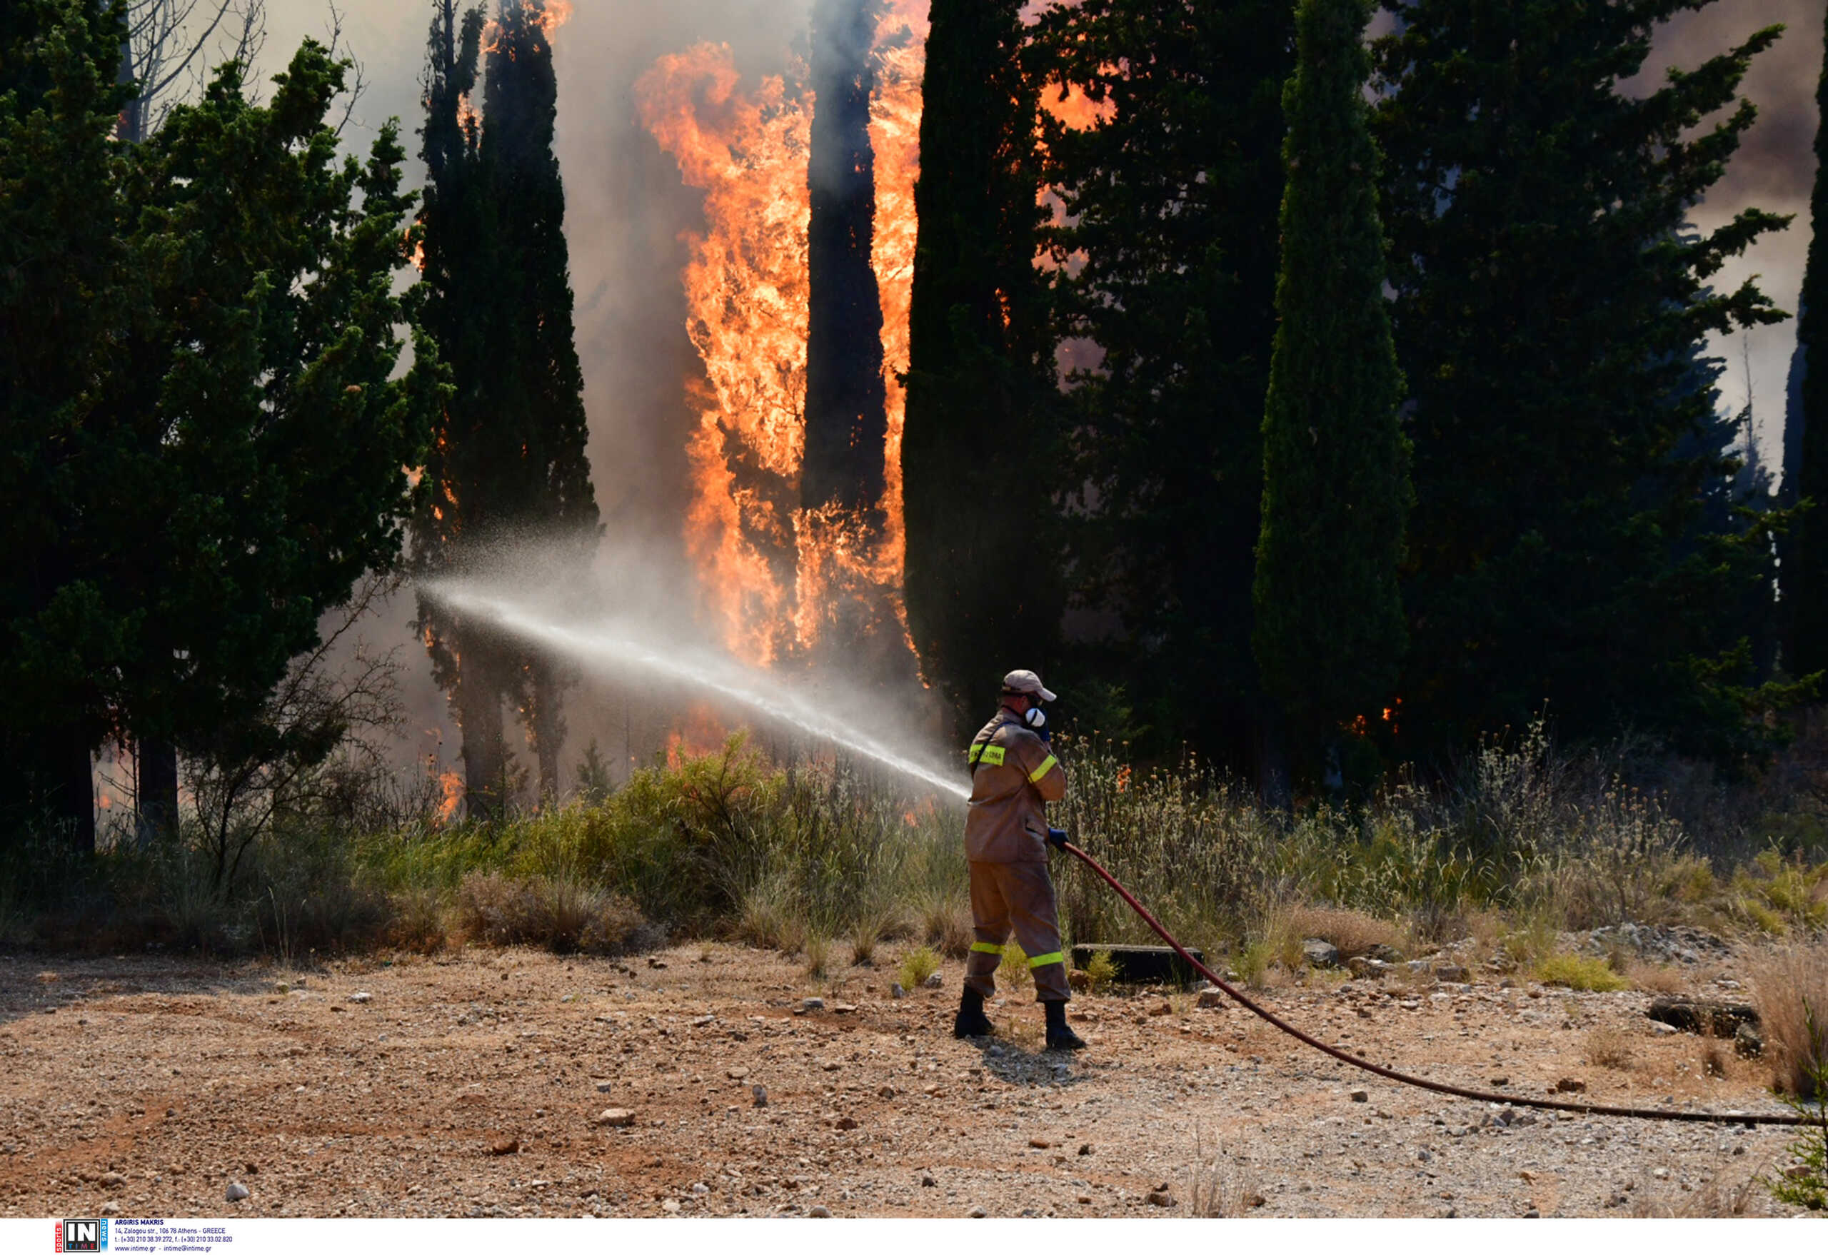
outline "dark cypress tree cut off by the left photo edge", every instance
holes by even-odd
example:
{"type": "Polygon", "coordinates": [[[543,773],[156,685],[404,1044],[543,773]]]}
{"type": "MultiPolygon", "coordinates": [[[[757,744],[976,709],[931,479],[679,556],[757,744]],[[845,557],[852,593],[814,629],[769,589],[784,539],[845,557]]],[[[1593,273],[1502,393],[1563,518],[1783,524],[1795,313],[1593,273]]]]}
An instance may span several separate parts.
{"type": "Polygon", "coordinates": [[[106,532],[79,532],[108,519],[91,459],[119,440],[91,384],[128,296],[110,142],[122,35],[106,0],[0,7],[0,833],[49,817],[80,849],[133,627],[93,554],[106,532]]]}

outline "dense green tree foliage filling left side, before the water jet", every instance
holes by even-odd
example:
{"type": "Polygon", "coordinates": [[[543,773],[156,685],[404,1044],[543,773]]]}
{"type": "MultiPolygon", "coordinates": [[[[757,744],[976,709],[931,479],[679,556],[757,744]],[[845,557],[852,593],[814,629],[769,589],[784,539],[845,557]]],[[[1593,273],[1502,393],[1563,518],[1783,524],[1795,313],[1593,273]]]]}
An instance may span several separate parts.
{"type": "Polygon", "coordinates": [[[395,376],[411,195],[393,124],[336,159],[347,66],[305,40],[261,106],[228,64],[115,152],[117,9],[97,9],[9,7],[0,110],[0,789],[60,793],[80,844],[104,734],[199,754],[272,734],[318,617],[395,561],[441,400],[430,343],[395,376]]]}

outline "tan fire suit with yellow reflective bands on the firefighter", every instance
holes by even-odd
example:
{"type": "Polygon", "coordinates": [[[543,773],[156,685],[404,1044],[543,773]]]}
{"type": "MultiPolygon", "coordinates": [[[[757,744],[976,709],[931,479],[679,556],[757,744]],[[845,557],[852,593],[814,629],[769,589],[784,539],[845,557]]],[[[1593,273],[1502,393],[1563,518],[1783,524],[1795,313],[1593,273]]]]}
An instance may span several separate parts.
{"type": "Polygon", "coordinates": [[[1047,877],[1047,802],[1066,796],[1066,773],[1022,716],[1002,707],[971,742],[971,811],[965,815],[965,859],[971,864],[971,921],[976,943],[965,961],[965,985],[983,997],[996,990],[993,974],[1004,943],[1016,944],[1035,974],[1035,997],[1064,1003],[1066,955],[1047,877]]]}

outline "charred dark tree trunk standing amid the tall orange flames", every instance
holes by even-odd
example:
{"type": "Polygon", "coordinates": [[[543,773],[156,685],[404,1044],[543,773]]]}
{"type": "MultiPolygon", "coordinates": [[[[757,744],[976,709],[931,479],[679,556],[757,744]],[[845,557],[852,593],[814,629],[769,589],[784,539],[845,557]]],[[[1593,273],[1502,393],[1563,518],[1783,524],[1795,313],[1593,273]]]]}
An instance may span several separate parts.
{"type": "Polygon", "coordinates": [[[879,526],[883,311],[870,269],[876,155],[870,150],[872,44],[879,0],[817,0],[812,11],[812,219],[806,270],[806,451],[801,504],[839,506],[879,526]]]}

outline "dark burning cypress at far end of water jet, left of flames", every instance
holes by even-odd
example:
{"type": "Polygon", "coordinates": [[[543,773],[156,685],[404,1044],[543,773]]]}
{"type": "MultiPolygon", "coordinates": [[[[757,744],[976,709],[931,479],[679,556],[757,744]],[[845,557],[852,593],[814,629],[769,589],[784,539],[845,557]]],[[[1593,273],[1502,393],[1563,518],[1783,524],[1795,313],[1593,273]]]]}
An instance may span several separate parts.
{"type": "MultiPolygon", "coordinates": [[[[503,0],[495,18],[439,0],[426,71],[424,316],[455,374],[413,521],[422,574],[486,574],[515,543],[576,570],[600,526],[585,459],[583,373],[572,342],[565,190],[552,132],[552,31],[565,9],[503,0]],[[486,49],[484,49],[486,42],[486,49]],[[484,108],[470,97],[483,66],[484,108]]],[[[512,791],[503,703],[532,742],[539,795],[558,795],[569,683],[550,656],[420,597],[433,672],[462,727],[473,813],[512,791]]]]}

